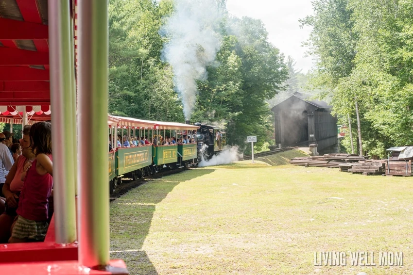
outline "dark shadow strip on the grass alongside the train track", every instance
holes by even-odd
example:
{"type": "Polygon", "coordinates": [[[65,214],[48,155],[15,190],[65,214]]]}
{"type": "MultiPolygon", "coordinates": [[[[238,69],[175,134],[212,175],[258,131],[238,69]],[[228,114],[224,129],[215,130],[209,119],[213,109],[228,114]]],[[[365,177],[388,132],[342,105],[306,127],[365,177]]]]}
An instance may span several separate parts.
{"type": "Polygon", "coordinates": [[[130,274],[157,275],[155,266],[142,250],[149,234],[156,204],[161,202],[176,185],[213,171],[215,170],[193,169],[150,180],[112,202],[110,205],[111,258],[123,259],[130,274]]]}

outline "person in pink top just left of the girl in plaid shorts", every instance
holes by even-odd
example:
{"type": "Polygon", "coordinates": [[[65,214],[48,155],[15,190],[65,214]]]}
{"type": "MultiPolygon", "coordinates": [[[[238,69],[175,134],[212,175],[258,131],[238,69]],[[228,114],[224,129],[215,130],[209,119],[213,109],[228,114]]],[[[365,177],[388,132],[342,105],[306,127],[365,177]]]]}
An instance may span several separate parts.
{"type": "Polygon", "coordinates": [[[3,194],[6,197],[6,209],[4,213],[0,215],[0,243],[8,242],[11,226],[17,216],[18,195],[23,189],[23,181],[21,180],[23,167],[27,162],[33,162],[35,158],[32,147],[30,146],[29,133],[30,125],[26,125],[23,128],[22,155],[17,159],[12,169],[10,169],[3,186],[3,194]]]}

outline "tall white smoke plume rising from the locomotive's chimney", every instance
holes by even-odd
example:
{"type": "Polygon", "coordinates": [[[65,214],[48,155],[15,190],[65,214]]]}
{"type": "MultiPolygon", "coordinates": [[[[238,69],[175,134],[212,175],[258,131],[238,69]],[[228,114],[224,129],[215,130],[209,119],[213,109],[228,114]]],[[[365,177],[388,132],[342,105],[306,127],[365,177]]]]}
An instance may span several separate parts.
{"type": "Polygon", "coordinates": [[[174,13],[161,29],[170,38],[162,59],[172,65],[174,84],[190,119],[195,105],[196,80],[207,78],[206,66],[221,48],[219,23],[223,17],[215,0],[175,0],[174,13]]]}

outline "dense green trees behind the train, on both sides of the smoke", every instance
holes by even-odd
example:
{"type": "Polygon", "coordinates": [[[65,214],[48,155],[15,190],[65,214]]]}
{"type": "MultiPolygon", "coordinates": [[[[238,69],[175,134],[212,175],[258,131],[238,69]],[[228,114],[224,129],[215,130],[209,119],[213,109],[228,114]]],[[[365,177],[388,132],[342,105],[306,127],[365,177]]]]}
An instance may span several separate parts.
{"type": "MultiPolygon", "coordinates": [[[[225,0],[217,3],[225,9],[225,0]]],[[[184,122],[172,68],[161,60],[167,38],[159,30],[172,12],[172,0],[109,1],[110,113],[184,122]]],[[[208,78],[197,82],[191,121],[226,127],[229,144],[243,146],[247,135],[258,135],[262,146],[274,124],[266,100],[288,78],[284,56],[268,42],[260,20],[224,16],[220,34],[208,78]]]]}

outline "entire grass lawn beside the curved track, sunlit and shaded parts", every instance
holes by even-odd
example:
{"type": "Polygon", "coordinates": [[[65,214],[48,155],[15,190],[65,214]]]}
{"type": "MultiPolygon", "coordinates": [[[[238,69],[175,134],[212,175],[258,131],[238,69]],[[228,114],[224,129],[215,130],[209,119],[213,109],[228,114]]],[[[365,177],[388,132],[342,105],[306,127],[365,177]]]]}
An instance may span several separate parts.
{"type": "Polygon", "coordinates": [[[413,274],[412,178],[250,162],[151,180],[111,203],[111,258],[134,275],[413,274]],[[314,266],[321,251],[373,251],[377,263],[402,251],[404,266],[314,266]]]}

